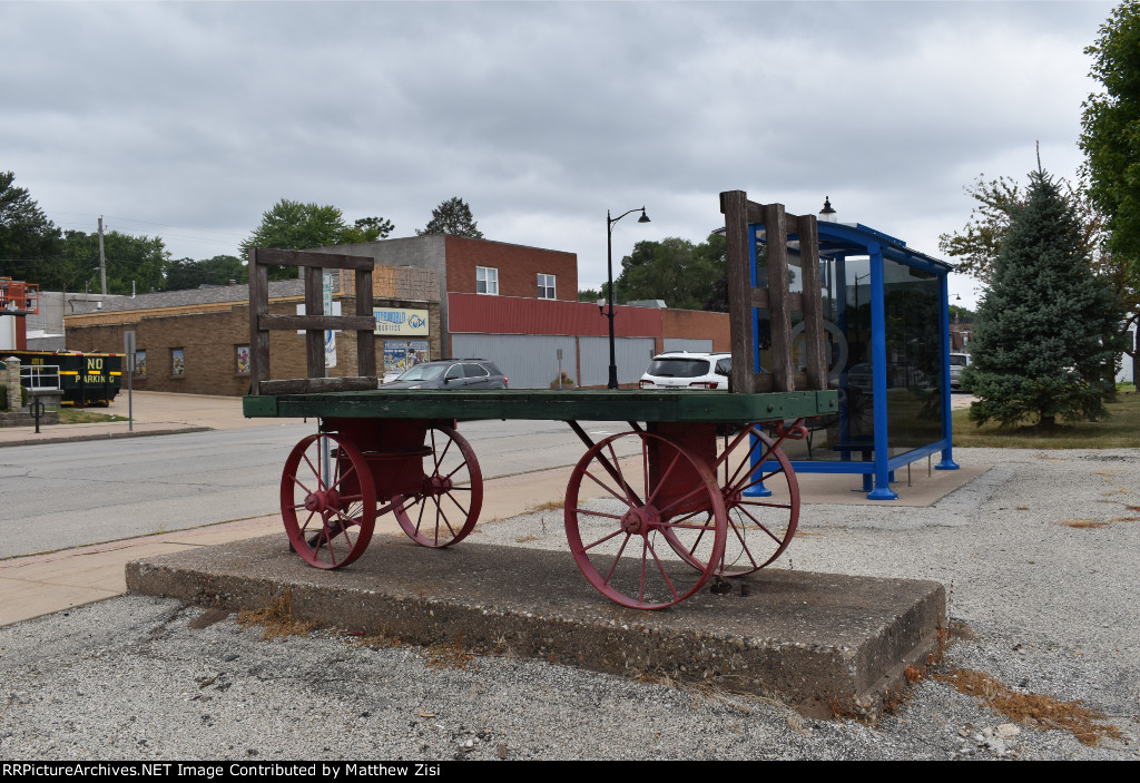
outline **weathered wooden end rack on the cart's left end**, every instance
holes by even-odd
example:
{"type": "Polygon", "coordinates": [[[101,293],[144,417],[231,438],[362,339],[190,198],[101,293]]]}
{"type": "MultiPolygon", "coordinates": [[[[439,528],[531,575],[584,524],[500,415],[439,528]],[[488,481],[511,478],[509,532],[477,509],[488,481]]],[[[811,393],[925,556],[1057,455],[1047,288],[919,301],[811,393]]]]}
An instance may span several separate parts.
{"type": "Polygon", "coordinates": [[[376,319],[372,312],[372,270],[375,261],[359,255],[334,255],[307,251],[250,251],[250,376],[251,394],[304,394],[324,391],[376,389],[376,319]],[[300,267],[304,280],[304,316],[270,315],[269,267],[300,267]],[[351,269],[356,282],[356,315],[324,312],[321,270],[351,269]],[[304,329],[304,353],[309,377],[269,380],[269,333],[304,329]],[[357,376],[326,378],[325,329],[357,333],[357,376]]]}

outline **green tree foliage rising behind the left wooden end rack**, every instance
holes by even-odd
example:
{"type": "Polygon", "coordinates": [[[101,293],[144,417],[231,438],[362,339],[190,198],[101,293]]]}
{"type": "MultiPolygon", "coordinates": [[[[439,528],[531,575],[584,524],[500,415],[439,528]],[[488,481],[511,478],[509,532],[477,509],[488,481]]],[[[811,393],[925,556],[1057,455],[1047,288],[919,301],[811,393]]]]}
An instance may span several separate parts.
{"type": "MultiPolygon", "coordinates": [[[[309,250],[374,242],[386,237],[393,228],[392,221],[383,218],[361,218],[349,226],[339,207],[282,198],[262,213],[261,225],[242,243],[242,252],[249,253],[252,247],[309,250]]],[[[295,275],[296,270],[287,267],[269,270],[271,279],[295,275]]]]}

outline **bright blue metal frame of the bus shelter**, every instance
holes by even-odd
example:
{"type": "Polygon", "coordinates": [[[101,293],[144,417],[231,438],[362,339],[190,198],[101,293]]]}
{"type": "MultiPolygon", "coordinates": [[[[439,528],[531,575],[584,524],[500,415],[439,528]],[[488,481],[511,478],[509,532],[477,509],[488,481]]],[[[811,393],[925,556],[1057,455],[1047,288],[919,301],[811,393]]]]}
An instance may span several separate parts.
{"type": "MultiPolygon", "coordinates": [[[[763,226],[754,225],[749,231],[749,251],[751,255],[751,283],[756,285],[756,255],[757,244],[764,242],[760,237],[763,226]]],[[[848,255],[868,255],[871,264],[871,368],[872,368],[872,391],[874,411],[874,439],[868,441],[866,451],[873,451],[874,457],[870,460],[855,462],[849,454],[845,452],[838,462],[825,460],[795,460],[792,467],[800,473],[850,473],[863,475],[863,491],[872,500],[894,500],[898,494],[890,489],[890,482],[895,478],[895,471],[904,467],[922,457],[940,451],[942,462],[937,464],[939,471],[958,470],[958,464],[953,459],[952,448],[952,418],[950,406],[950,284],[948,275],[953,269],[948,263],[939,261],[933,256],[919,253],[906,247],[906,243],[896,237],[856,223],[854,226],[845,223],[819,223],[820,255],[832,260],[844,260],[848,255]],[[887,446],[887,328],[886,328],[886,304],[885,304],[885,270],[883,261],[895,261],[914,269],[937,275],[939,280],[939,334],[942,340],[942,438],[933,443],[911,449],[895,457],[890,457],[887,446]],[[871,480],[874,480],[872,488],[871,480]]],[[[797,237],[790,237],[795,242],[797,237]]],[[[838,286],[845,292],[846,286],[838,286]]],[[[845,304],[841,302],[840,304],[845,304]]],[[[841,317],[846,318],[846,307],[840,307],[841,317]]],[[[842,326],[842,325],[841,325],[842,326]]],[[[846,328],[844,329],[846,332],[846,328]]],[[[759,372],[759,313],[752,310],[752,344],[756,345],[756,354],[752,362],[756,372],[759,372]]],[[[846,382],[846,378],[841,378],[846,382]]],[[[846,385],[842,383],[841,385],[846,385]]],[[[848,426],[846,401],[840,403],[840,427],[848,426]]],[[[858,450],[858,449],[853,449],[858,450]]],[[[754,462],[758,460],[756,452],[752,455],[754,462]]],[[[764,472],[779,470],[780,464],[775,460],[764,463],[764,472]]],[[[757,495],[771,495],[763,484],[758,488],[757,495]]]]}

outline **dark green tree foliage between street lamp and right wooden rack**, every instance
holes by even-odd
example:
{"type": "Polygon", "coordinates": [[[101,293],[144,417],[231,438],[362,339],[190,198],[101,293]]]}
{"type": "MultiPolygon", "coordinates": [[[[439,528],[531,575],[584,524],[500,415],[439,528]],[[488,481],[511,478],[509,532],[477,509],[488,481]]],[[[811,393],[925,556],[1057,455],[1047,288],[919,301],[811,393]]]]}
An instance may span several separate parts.
{"type": "Polygon", "coordinates": [[[670,308],[703,310],[724,274],[725,239],[718,234],[699,245],[679,237],[638,242],[621,259],[613,293],[620,302],[661,299],[670,308]]]}

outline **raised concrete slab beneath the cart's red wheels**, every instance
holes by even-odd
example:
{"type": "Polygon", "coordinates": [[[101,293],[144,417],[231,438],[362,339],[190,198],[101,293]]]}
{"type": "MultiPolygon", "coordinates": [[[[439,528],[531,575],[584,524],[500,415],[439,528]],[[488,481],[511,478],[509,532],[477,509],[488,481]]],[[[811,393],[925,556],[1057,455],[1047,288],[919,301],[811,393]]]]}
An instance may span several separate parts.
{"type": "Polygon", "coordinates": [[[642,612],[596,593],[567,552],[389,537],[337,571],[306,565],[278,535],[133,561],[127,584],[228,610],[287,592],[299,617],[332,627],[716,685],[814,716],[878,715],[945,626],[945,590],[931,581],[767,569],[732,593],[642,612]]]}

